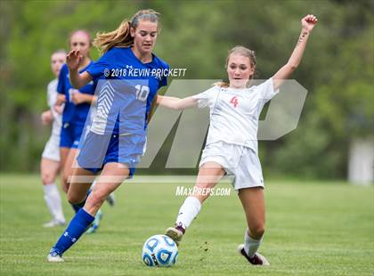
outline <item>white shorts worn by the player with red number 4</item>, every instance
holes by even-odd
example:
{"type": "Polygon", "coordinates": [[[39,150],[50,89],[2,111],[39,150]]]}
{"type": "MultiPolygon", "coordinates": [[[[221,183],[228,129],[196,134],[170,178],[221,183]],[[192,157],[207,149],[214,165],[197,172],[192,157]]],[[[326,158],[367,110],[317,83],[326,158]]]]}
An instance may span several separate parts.
{"type": "Polygon", "coordinates": [[[235,190],[264,187],[263,171],[255,150],[227,143],[208,144],[202,152],[199,166],[213,161],[224,167],[227,175],[233,175],[235,190]]]}

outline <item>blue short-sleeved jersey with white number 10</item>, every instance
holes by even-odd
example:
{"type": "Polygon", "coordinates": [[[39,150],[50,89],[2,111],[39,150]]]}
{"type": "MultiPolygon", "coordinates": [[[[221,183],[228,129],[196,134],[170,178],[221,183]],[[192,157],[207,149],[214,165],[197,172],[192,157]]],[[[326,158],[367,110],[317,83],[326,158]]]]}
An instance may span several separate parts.
{"type": "Polygon", "coordinates": [[[152,61],[142,63],[131,47],[114,47],[104,53],[86,69],[99,81],[98,111],[91,130],[96,134],[145,134],[152,101],[159,88],[167,85],[167,77],[159,72],[167,69],[167,63],[154,54],[152,61]],[[102,123],[101,129],[97,122],[102,123]]]}

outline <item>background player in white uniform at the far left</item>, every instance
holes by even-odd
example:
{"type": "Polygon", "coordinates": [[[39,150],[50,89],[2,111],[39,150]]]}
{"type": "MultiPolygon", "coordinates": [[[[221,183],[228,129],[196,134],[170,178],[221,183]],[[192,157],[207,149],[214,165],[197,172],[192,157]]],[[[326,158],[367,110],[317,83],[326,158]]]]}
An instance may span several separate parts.
{"type": "MultiPolygon", "coordinates": [[[[61,133],[61,114],[53,109],[57,98],[57,77],[59,77],[62,64],[66,61],[66,52],[58,50],[51,56],[51,69],[56,77],[51,81],[47,88],[47,102],[49,110],[42,113],[42,122],[44,125],[52,123],[52,133],[48,142],[45,144],[45,150],[40,162],[40,174],[42,176],[43,190],[45,193],[45,203],[53,219],[45,223],[45,227],[53,227],[65,224],[65,217],[62,212],[60,193],[55,184],[55,180],[60,171],[60,133],[61,133]]],[[[61,112],[60,112],[61,113],[61,112]]]]}

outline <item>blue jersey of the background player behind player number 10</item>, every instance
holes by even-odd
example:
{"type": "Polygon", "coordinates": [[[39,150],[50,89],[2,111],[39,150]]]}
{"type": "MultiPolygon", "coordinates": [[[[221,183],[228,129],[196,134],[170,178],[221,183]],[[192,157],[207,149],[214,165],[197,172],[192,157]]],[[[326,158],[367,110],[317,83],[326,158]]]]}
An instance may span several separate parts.
{"type": "MultiPolygon", "coordinates": [[[[85,69],[87,69],[91,64],[93,64],[93,61],[91,61],[90,64],[87,67],[85,67],[85,69]]],[[[84,72],[85,69],[80,70],[79,73],[84,72]]],[[[96,82],[92,81],[84,87],[78,89],[78,91],[80,93],[87,93],[93,95],[95,87],[96,82]]],[[[88,102],[80,103],[77,105],[74,104],[70,100],[70,98],[72,93],[75,93],[75,91],[76,89],[74,89],[70,84],[68,66],[64,64],[61,68],[59,84],[57,85],[57,92],[64,94],[66,97],[65,108],[62,113],[62,124],[69,123],[70,125],[84,126],[85,118],[87,117],[91,104],[88,102]]]]}

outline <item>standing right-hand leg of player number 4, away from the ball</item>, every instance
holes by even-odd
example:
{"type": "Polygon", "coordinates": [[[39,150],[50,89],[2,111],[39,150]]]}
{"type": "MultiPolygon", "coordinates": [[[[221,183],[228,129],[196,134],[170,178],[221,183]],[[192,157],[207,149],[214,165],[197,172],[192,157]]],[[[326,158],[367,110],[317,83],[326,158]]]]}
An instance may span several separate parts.
{"type": "Polygon", "coordinates": [[[264,188],[240,189],[238,195],[248,223],[248,229],[244,233],[244,244],[239,246],[238,251],[250,264],[269,265],[264,256],[257,253],[264,236],[264,188]]]}

